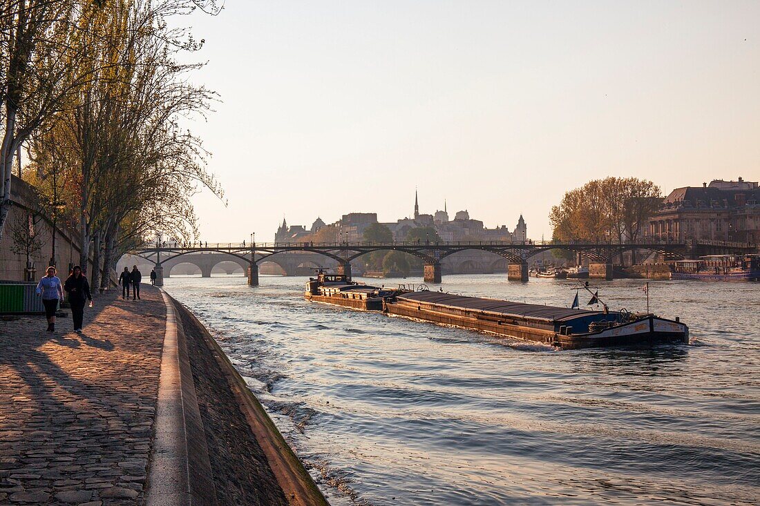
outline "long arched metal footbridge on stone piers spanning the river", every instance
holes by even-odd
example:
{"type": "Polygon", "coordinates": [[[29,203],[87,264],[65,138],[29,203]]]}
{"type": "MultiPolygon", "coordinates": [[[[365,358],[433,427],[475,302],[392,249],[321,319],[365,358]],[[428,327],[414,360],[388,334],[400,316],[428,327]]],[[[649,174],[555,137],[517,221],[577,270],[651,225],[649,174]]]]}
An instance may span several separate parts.
{"type": "MultiPolygon", "coordinates": [[[[178,243],[160,243],[146,245],[144,248],[131,251],[156,264],[155,270],[159,275],[158,284],[163,284],[163,268],[171,262],[181,263],[182,257],[208,253],[223,253],[230,261],[235,261],[248,268],[249,284],[258,285],[258,267],[264,261],[274,261],[282,265],[282,258],[291,257],[292,261],[303,261],[296,258],[297,253],[318,254],[334,261],[339,274],[351,274],[350,262],[372,251],[403,251],[420,258],[424,264],[424,277],[427,283],[441,282],[441,261],[461,251],[488,251],[499,255],[508,261],[508,278],[511,280],[527,281],[527,261],[530,257],[543,251],[561,249],[573,251],[584,256],[591,262],[592,275],[612,277],[612,261],[623,251],[645,249],[656,251],[665,258],[681,259],[687,255],[697,255],[699,252],[709,253],[746,253],[755,251],[756,247],[740,243],[689,242],[689,243],[549,243],[549,242],[268,242],[245,245],[245,243],[198,243],[181,245],[178,243]],[[287,254],[287,255],[283,255],[287,254]],[[279,255],[276,258],[275,255],[279,255]],[[599,274],[600,273],[600,274],[599,274]]],[[[217,255],[214,255],[217,256],[217,255]]],[[[300,256],[300,255],[299,255],[300,256]]],[[[308,262],[313,262],[309,255],[308,262]]],[[[221,259],[208,258],[206,270],[201,267],[204,275],[211,275],[211,268],[221,259]]],[[[193,262],[195,263],[195,262],[193,262]]],[[[328,267],[328,266],[325,266],[328,267]]]]}

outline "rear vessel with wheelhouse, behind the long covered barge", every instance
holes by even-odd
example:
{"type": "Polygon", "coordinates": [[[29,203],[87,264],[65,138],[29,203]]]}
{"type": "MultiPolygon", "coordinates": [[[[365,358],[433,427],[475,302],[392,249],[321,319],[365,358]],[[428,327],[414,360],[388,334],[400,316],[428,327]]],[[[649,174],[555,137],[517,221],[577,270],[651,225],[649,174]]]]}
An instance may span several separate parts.
{"type": "Polygon", "coordinates": [[[351,281],[344,274],[325,274],[319,270],[317,277],[310,277],[306,283],[306,300],[342,305],[365,311],[382,311],[385,297],[397,293],[395,289],[378,288],[351,281]]]}

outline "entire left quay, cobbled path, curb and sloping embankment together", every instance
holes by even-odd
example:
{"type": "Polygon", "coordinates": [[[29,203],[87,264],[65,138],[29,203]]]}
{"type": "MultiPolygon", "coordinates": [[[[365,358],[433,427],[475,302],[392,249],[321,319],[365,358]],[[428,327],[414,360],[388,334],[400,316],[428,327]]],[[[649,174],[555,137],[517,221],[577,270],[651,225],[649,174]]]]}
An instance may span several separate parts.
{"type": "Polygon", "coordinates": [[[0,321],[0,505],[325,506],[207,329],[109,290],[84,332],[0,321]]]}

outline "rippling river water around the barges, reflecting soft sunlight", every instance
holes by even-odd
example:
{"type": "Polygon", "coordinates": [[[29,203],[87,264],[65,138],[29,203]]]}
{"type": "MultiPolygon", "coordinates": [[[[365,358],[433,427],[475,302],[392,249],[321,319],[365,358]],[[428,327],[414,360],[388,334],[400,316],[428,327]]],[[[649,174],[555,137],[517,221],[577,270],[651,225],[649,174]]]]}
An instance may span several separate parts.
{"type": "MultiPolygon", "coordinates": [[[[305,280],[166,289],[331,504],[758,504],[758,283],[651,282],[652,310],[681,317],[688,346],[557,351],[306,302],[305,280]]],[[[596,284],[610,308],[645,308],[639,280],[596,284]]],[[[505,274],[442,286],[549,305],[575,295],[570,280],[505,274]]]]}

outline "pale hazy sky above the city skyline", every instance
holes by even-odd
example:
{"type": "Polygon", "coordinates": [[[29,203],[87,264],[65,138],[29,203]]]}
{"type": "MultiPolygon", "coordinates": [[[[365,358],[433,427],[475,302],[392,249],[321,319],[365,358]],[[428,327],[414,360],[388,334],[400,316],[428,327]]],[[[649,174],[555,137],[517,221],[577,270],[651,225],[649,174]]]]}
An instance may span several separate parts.
{"type": "Polygon", "coordinates": [[[229,200],[195,198],[209,242],[395,220],[415,187],[423,213],[523,213],[548,239],[589,179],[760,179],[760,2],[226,0],[182,21],[223,100],[191,125],[229,200]]]}

